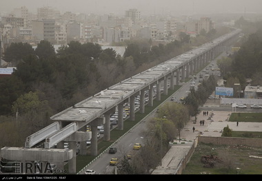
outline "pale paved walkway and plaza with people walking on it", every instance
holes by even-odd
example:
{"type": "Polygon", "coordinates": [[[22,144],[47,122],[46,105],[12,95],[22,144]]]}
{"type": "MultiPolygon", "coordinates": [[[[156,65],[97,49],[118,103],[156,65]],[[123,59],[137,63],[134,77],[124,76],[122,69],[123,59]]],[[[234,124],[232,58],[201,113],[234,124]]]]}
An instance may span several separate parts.
{"type": "Polygon", "coordinates": [[[179,163],[192,147],[196,136],[215,136],[222,134],[224,127],[229,127],[233,131],[261,131],[262,123],[245,123],[228,122],[231,111],[209,111],[208,116],[203,115],[203,111],[197,116],[196,123],[190,120],[188,125],[181,131],[181,141],[176,140],[176,144],[172,145],[168,153],[162,159],[161,166],[157,167],[152,174],[174,174],[179,163]],[[211,120],[208,119],[213,114],[211,120]],[[200,124],[200,120],[205,120],[204,124],[200,124]],[[195,128],[193,131],[192,128],[195,128]],[[181,144],[183,143],[183,144],[181,144]]]}

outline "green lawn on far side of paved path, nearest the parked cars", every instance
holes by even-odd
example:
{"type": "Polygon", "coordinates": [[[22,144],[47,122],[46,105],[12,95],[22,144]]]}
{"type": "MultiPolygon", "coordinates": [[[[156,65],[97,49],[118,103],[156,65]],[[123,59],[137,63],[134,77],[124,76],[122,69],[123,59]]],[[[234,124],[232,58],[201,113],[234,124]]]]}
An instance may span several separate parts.
{"type": "Polygon", "coordinates": [[[262,123],[262,113],[232,113],[228,121],[262,123]]]}

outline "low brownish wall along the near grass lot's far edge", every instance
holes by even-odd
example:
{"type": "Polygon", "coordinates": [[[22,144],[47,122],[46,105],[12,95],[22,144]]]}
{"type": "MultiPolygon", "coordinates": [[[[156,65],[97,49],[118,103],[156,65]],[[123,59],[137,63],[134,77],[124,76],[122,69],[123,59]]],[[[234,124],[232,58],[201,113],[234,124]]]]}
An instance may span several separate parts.
{"type": "Polygon", "coordinates": [[[214,145],[247,145],[250,147],[262,147],[261,138],[199,136],[198,140],[199,142],[212,143],[214,145]]]}

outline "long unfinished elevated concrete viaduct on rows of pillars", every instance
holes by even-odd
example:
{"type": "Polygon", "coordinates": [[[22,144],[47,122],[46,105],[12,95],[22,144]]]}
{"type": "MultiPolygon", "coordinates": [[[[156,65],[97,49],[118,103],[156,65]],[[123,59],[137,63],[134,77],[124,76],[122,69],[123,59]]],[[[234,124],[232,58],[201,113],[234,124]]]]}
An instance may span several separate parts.
{"type": "Polygon", "coordinates": [[[156,87],[157,100],[161,100],[162,91],[163,94],[168,94],[168,78],[170,78],[170,89],[174,89],[174,85],[179,85],[179,81],[184,81],[208,61],[227,50],[238,39],[240,33],[241,30],[234,30],[112,85],[108,89],[55,114],[50,118],[54,120],[54,123],[28,136],[24,148],[3,147],[0,156],[8,160],[56,162],[59,167],[62,167],[63,162],[68,160],[69,173],[76,173],[76,142],[80,142],[80,153],[86,154],[85,141],[92,138],[91,154],[96,156],[97,126],[104,125],[104,139],[110,140],[110,115],[116,109],[118,110],[117,129],[123,129],[124,103],[130,103],[130,119],[134,120],[135,96],[140,96],[140,111],[143,113],[145,90],[149,92],[148,105],[153,106],[153,87],[156,87]],[[161,85],[163,85],[163,90],[161,85]],[[87,125],[92,127],[92,133],[86,131],[87,125]],[[43,148],[33,148],[43,140],[43,148]],[[61,144],[63,141],[69,142],[69,149],[63,149],[63,144],[61,144]],[[57,145],[58,149],[53,149],[54,145],[57,145]]]}

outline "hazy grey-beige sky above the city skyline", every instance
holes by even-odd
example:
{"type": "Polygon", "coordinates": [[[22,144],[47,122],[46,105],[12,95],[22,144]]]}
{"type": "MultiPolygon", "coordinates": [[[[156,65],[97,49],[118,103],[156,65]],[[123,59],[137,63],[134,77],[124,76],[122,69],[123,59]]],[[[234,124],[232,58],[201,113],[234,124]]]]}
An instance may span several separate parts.
{"type": "Polygon", "coordinates": [[[86,14],[124,14],[130,8],[141,10],[141,15],[262,12],[262,0],[0,0],[0,12],[10,12],[21,6],[35,13],[43,6],[52,6],[62,13],[86,14]]]}

